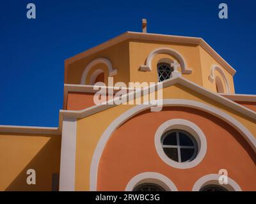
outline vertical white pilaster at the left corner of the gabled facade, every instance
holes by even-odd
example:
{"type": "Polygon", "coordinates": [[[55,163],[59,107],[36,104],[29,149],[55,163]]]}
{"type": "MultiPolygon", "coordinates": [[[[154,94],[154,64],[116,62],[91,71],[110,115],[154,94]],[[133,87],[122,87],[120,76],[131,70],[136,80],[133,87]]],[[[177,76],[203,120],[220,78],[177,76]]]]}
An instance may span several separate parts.
{"type": "Polygon", "coordinates": [[[75,191],[76,129],[76,119],[63,119],[60,157],[60,191],[75,191]]]}

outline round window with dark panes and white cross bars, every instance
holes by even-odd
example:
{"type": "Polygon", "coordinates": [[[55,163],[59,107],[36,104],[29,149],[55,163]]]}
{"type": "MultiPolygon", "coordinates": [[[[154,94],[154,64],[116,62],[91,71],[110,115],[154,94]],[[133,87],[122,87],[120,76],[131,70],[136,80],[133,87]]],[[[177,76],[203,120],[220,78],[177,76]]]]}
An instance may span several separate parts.
{"type": "Polygon", "coordinates": [[[164,133],[161,138],[161,145],[166,156],[179,163],[193,161],[198,152],[195,138],[180,129],[164,133]]]}

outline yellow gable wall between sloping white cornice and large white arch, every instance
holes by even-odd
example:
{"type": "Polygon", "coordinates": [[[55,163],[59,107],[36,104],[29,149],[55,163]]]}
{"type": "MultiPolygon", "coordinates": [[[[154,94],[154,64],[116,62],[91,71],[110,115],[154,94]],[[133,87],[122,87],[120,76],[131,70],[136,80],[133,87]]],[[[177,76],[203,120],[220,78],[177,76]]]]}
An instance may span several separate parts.
{"type": "MultiPolygon", "coordinates": [[[[222,105],[206,96],[192,91],[188,87],[176,84],[163,89],[163,98],[189,99],[206,103],[228,113],[239,120],[253,135],[256,135],[255,121],[242,113],[236,112],[228,106],[222,105]]],[[[119,105],[84,119],[77,120],[77,146],[76,146],[76,190],[89,191],[90,164],[93,152],[100,136],[116,117],[129,110],[134,105],[119,105]],[[104,118],[104,120],[102,120],[104,118]],[[99,124],[100,121],[100,124],[99,124]]]]}

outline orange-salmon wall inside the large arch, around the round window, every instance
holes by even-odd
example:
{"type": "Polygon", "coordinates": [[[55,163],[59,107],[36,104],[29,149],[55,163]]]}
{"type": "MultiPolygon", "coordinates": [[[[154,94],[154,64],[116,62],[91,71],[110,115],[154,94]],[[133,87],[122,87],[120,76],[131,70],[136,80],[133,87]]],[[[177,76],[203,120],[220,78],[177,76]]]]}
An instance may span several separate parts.
{"type": "Polygon", "coordinates": [[[166,107],[161,112],[147,110],[129,119],[109,138],[99,163],[97,190],[124,191],[132,177],[154,171],[172,180],[178,191],[191,191],[196,180],[226,169],[228,177],[243,191],[256,191],[255,161],[255,153],[243,136],[209,113],[184,107],[166,107]],[[170,119],[194,122],[205,134],[207,152],[194,168],[168,166],[156,152],[156,130],[170,119]]]}

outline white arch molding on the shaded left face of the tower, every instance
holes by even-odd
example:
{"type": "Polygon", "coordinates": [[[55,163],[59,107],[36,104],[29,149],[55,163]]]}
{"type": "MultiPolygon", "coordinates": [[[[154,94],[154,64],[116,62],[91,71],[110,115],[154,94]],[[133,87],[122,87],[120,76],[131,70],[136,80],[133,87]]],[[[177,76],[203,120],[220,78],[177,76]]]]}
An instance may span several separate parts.
{"type": "Polygon", "coordinates": [[[113,69],[113,66],[112,66],[111,62],[108,59],[106,59],[106,58],[97,58],[97,59],[94,59],[93,61],[91,61],[86,66],[86,68],[84,68],[80,84],[84,85],[86,83],[86,77],[87,77],[90,69],[92,69],[93,66],[95,66],[97,64],[101,64],[101,63],[106,64],[106,66],[108,66],[108,75],[109,75],[109,77],[113,77],[114,75],[116,75],[117,70],[113,69]]]}

